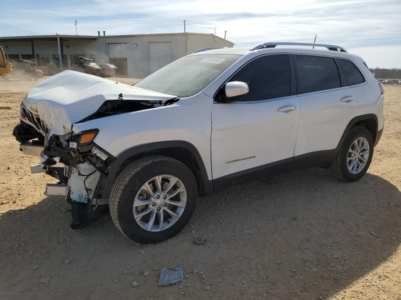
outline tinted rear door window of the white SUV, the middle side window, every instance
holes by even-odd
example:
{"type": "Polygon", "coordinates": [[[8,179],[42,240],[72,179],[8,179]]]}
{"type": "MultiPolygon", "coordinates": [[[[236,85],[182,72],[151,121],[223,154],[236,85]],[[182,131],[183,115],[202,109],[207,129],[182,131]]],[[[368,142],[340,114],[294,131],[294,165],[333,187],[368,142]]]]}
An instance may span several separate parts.
{"type": "Polygon", "coordinates": [[[297,55],[301,94],[340,88],[340,74],[333,58],[297,55]]]}

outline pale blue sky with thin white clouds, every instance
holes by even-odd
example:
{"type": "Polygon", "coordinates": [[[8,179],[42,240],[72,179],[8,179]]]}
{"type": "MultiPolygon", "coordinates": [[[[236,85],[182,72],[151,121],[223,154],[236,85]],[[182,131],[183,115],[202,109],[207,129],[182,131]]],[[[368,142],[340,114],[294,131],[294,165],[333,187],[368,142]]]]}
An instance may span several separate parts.
{"type": "Polygon", "coordinates": [[[214,33],[238,46],[334,44],[401,68],[401,0],[0,0],[0,36],[214,33]]]}

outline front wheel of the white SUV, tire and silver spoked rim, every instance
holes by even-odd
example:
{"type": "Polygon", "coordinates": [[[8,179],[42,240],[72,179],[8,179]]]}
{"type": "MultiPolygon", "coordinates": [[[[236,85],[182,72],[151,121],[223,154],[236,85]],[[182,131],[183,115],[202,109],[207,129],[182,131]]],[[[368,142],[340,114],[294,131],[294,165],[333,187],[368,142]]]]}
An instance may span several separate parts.
{"type": "Polygon", "coordinates": [[[132,162],[117,176],[109,208],[115,226],[127,238],[155,244],[186,226],[196,198],[195,178],[184,164],[152,155],[132,162]]]}

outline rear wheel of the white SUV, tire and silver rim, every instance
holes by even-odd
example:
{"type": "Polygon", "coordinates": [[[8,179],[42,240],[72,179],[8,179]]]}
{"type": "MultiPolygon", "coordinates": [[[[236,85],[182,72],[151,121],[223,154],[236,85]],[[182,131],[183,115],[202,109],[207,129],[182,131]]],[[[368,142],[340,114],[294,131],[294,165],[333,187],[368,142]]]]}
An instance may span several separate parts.
{"type": "Polygon", "coordinates": [[[364,127],[354,126],[334,158],[330,171],[341,181],[354,182],[367,172],[373,157],[372,134],[364,127]]]}

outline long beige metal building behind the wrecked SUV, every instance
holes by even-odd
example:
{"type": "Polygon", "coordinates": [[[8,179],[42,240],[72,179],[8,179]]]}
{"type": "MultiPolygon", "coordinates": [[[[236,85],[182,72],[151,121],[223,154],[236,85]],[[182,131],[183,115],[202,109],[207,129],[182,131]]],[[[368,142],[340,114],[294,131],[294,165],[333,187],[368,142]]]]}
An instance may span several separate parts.
{"type": "Polygon", "coordinates": [[[207,47],[233,47],[233,42],[202,33],[130,34],[119,36],[45,35],[0,37],[6,58],[35,60],[52,72],[71,68],[75,55],[97,64],[110,63],[123,73],[143,78],[162,66],[207,47]]]}

